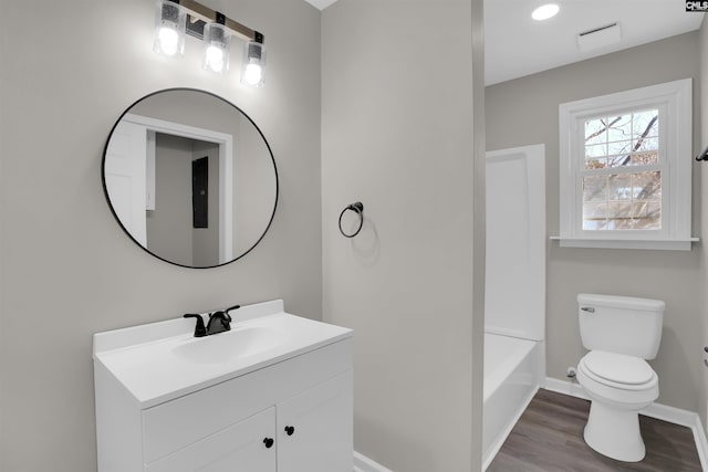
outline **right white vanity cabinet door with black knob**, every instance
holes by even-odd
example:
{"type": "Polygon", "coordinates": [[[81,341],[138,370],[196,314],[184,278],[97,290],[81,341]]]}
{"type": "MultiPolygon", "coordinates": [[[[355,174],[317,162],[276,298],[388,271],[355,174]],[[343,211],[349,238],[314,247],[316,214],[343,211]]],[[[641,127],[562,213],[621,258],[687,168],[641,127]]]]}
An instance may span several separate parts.
{"type": "Polygon", "coordinates": [[[352,472],[352,370],[277,405],[278,472],[352,472]]]}

